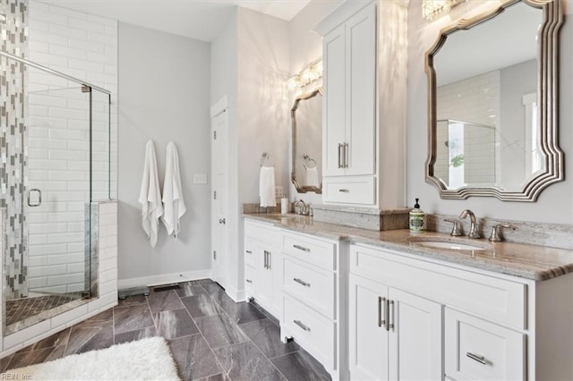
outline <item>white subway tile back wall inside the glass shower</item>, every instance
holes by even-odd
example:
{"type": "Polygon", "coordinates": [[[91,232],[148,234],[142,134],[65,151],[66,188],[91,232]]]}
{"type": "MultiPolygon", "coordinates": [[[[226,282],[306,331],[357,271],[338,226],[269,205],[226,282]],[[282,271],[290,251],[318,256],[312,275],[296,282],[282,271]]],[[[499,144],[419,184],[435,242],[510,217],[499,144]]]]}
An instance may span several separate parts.
{"type": "MultiPolygon", "coordinates": [[[[112,92],[111,108],[106,94],[91,92],[91,184],[93,200],[115,199],[117,22],[37,1],[29,8],[30,61],[112,92]]],[[[29,77],[28,189],[42,191],[42,205],[28,210],[30,291],[81,291],[84,210],[90,200],[90,94],[81,92],[80,84],[37,69],[30,69],[29,77]]],[[[106,229],[104,235],[113,233],[113,225],[106,229]]]]}

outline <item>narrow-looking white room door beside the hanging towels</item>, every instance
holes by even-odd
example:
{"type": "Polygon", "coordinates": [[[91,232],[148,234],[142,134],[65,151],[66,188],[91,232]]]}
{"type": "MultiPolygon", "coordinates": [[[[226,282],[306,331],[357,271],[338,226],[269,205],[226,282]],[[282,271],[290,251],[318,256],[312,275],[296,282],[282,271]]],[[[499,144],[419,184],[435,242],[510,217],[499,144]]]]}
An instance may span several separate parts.
{"type": "Polygon", "coordinates": [[[228,112],[211,119],[211,247],[213,280],[225,287],[228,275],[228,112]]]}

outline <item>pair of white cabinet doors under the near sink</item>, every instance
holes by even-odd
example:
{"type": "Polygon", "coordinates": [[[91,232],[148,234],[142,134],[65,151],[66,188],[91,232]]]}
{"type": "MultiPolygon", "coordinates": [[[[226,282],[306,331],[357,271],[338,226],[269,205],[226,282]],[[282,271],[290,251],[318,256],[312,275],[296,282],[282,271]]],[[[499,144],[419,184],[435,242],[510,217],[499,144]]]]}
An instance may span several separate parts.
{"type": "Polygon", "coordinates": [[[440,379],[440,303],[351,274],[351,379],[440,379]]]}

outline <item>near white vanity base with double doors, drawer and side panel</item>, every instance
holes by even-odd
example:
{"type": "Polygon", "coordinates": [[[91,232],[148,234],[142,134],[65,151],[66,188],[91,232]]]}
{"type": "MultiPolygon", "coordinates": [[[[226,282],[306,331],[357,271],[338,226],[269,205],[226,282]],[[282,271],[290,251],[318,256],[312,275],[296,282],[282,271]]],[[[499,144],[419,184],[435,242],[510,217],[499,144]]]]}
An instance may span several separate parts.
{"type": "Polygon", "coordinates": [[[573,274],[545,281],[350,245],[351,379],[573,379],[573,274]]]}

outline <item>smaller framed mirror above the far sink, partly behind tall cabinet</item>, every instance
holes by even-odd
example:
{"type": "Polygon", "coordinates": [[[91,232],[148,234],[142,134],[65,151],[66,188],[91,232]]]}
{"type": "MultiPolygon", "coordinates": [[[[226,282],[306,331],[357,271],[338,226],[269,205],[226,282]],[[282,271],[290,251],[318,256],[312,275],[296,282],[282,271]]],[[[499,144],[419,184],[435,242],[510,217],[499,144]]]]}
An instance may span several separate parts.
{"type": "Polygon", "coordinates": [[[322,88],[297,97],[292,120],[291,181],[296,191],[322,193],[322,88]]]}

